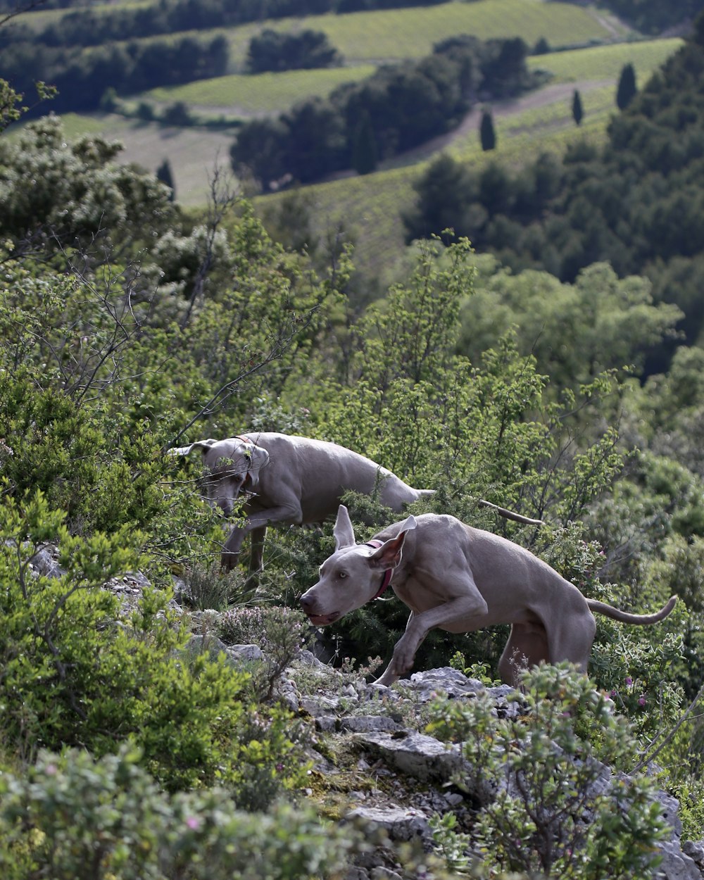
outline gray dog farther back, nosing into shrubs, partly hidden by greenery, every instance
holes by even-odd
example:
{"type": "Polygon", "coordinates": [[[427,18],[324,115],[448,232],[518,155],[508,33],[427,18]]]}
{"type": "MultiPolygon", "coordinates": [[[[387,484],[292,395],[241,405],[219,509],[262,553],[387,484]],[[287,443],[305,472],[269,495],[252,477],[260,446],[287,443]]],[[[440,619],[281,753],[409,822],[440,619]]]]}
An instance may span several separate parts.
{"type": "Polygon", "coordinates": [[[246,524],[232,529],[222,554],[224,568],[237,565],[242,542],[252,535],[250,573],[262,568],[267,525],[321,523],[334,516],[348,490],[369,495],[400,512],[432,489],[414,489],[394,473],[357,452],[308,437],[253,431],[226,440],[199,440],[169,450],[171,455],[202,451],[209,501],[231,516],[246,493],[246,524]]]}

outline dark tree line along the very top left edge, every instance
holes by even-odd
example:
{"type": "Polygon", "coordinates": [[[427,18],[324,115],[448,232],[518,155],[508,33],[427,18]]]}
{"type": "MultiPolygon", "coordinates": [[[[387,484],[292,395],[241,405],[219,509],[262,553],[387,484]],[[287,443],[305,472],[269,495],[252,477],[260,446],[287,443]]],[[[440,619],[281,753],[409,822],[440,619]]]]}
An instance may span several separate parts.
{"type": "Polygon", "coordinates": [[[231,27],[251,21],[289,16],[322,15],[431,6],[446,0],[162,0],[131,9],[128,6],[99,12],[77,9],[40,30],[13,22],[0,31],[0,48],[18,40],[46,46],[99,46],[113,40],[136,40],[165,33],[231,27]]]}

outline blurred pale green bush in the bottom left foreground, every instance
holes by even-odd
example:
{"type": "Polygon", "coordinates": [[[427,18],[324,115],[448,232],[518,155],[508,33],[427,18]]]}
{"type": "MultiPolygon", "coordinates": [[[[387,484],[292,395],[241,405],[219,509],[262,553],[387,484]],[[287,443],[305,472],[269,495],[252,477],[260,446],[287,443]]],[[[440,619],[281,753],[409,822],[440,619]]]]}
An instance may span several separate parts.
{"type": "Polygon", "coordinates": [[[363,848],[301,805],[246,813],[224,789],[167,795],[134,749],[40,752],[0,777],[4,880],[299,880],[337,876],[363,848]]]}

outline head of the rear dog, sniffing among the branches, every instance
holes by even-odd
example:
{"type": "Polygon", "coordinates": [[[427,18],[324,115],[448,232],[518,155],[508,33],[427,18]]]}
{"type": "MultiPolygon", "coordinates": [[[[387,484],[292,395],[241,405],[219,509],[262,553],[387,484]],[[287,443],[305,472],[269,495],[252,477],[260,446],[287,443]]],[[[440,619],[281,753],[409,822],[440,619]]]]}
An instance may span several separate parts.
{"type": "Polygon", "coordinates": [[[169,454],[187,455],[194,449],[202,451],[203,484],[209,502],[229,517],[240,492],[256,491],[260,469],[269,460],[268,451],[246,437],[228,437],[198,440],[188,446],[174,447],[169,454]]]}

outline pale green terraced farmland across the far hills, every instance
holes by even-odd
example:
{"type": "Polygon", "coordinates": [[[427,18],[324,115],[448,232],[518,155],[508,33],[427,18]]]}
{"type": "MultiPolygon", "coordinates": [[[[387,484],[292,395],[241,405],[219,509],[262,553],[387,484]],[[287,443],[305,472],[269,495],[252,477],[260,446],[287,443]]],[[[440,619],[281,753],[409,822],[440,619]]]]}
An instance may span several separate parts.
{"type": "MultiPolygon", "coordinates": [[[[207,32],[212,36],[216,32],[207,32]]],[[[183,101],[205,118],[228,119],[282,112],[312,95],[326,95],[342,82],[368,77],[379,62],[418,58],[433,45],[458,33],[480,38],[520,35],[529,44],[545,38],[552,48],[566,48],[529,59],[533,68],[548,70],[550,84],[539,92],[493,108],[498,148],[491,158],[519,165],[541,150],[561,151],[576,137],[600,139],[614,110],[614,87],[623,64],[634,64],[638,83],[671,55],[679,40],[625,41],[633,34],[601,11],[543,0],[478,0],[450,2],[432,7],[357,12],[348,15],[282,19],[231,28],[225,33],[231,45],[227,77],[202,80],[172,89],[155,89],[131,96],[133,106],[148,100],[156,106],[183,101]],[[256,77],[243,72],[246,48],[253,33],[264,26],[292,31],[310,27],[326,33],[345,58],[345,66],[332,70],[297,70],[256,77]],[[621,40],[621,41],[619,41],[621,40]],[[579,46],[581,48],[574,48],[579,46]],[[237,72],[235,72],[237,71],[237,72]],[[576,128],[571,97],[579,88],[584,120],[576,128]]],[[[202,35],[206,35],[201,32],[202,35]]],[[[449,150],[463,161],[482,163],[477,115],[470,114],[450,136],[438,138],[387,163],[367,177],[342,176],[309,187],[317,231],[344,224],[358,246],[358,260],[386,271],[391,253],[402,241],[400,212],[413,201],[413,180],[424,163],[440,150],[449,150]]],[[[168,158],[176,184],[176,197],[184,206],[202,206],[216,161],[229,165],[231,131],[204,128],[168,128],[155,122],[131,121],[116,114],[66,117],[70,137],[101,133],[125,145],[121,159],[156,170],[168,158]]],[[[6,136],[11,136],[7,134],[6,136]]],[[[264,209],[275,206],[285,194],[258,198],[264,209]]]]}

